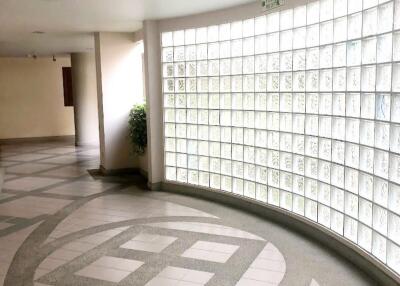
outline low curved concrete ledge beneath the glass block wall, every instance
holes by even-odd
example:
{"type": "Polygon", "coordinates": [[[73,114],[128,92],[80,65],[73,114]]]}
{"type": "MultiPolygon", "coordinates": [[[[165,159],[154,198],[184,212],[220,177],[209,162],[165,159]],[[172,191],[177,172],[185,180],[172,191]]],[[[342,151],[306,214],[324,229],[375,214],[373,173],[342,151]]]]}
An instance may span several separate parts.
{"type": "Polygon", "coordinates": [[[299,232],[340,254],[361,269],[366,275],[378,282],[379,285],[400,285],[400,277],[384,264],[374,259],[371,255],[346,238],[336,235],[327,228],[324,228],[305,217],[233,193],[167,182],[151,184],[151,187],[153,185],[156,186],[157,184],[160,184],[161,186],[159,186],[159,188],[150,189],[208,199],[213,202],[229,205],[256,214],[268,220],[275,221],[278,224],[287,226],[288,228],[299,232]]]}

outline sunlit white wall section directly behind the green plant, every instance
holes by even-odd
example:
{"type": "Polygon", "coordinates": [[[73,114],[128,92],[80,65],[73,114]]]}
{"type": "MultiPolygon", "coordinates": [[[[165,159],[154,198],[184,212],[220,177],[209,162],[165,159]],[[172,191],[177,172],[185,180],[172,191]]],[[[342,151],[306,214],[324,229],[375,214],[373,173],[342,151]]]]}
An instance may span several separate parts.
{"type": "Polygon", "coordinates": [[[143,46],[134,39],[134,33],[95,35],[101,166],[106,171],[140,166],[128,138],[129,111],[143,102],[143,46]]]}

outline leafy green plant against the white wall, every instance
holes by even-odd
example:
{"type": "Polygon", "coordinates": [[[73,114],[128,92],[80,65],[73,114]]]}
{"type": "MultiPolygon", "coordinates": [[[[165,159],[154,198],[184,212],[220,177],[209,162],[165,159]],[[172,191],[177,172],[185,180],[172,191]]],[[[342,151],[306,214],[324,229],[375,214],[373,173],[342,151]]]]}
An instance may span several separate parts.
{"type": "Polygon", "coordinates": [[[132,151],[143,155],[147,146],[146,104],[133,106],[129,112],[128,124],[132,151]]]}

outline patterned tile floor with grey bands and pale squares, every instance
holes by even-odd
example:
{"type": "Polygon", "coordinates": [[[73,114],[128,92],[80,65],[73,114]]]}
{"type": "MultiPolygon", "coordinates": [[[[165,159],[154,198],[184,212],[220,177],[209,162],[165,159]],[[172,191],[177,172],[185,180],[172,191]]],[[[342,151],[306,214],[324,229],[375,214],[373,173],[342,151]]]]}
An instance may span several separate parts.
{"type": "Polygon", "coordinates": [[[375,285],[278,225],[98,165],[93,148],[0,146],[0,286],[375,285]]]}

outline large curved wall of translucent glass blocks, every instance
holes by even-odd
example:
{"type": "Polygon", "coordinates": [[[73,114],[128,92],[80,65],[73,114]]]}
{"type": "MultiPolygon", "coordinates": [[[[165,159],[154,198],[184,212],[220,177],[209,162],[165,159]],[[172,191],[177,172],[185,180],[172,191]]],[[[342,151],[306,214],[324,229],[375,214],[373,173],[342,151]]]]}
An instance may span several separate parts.
{"type": "Polygon", "coordinates": [[[400,274],[400,0],[161,38],[166,181],[304,216],[400,274]]]}

